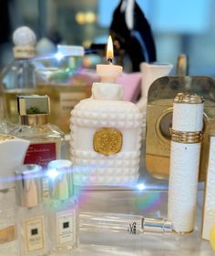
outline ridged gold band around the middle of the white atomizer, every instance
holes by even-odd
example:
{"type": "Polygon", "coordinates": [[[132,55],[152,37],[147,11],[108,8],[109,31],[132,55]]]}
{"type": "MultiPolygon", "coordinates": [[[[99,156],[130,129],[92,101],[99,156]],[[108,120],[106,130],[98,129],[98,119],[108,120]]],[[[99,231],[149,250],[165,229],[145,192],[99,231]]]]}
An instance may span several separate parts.
{"type": "Polygon", "coordinates": [[[199,143],[203,139],[202,131],[178,131],[170,129],[171,140],[178,143],[199,143]]]}

